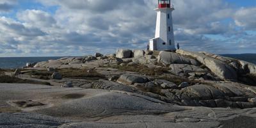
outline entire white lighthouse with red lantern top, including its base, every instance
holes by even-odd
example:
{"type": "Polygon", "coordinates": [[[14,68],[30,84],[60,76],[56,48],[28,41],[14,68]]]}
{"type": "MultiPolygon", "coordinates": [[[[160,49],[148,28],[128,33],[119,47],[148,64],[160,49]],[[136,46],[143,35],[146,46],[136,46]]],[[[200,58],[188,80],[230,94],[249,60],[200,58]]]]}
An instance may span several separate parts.
{"type": "Polygon", "coordinates": [[[155,38],[149,40],[150,51],[175,51],[172,11],[170,0],[158,0],[155,38]]]}

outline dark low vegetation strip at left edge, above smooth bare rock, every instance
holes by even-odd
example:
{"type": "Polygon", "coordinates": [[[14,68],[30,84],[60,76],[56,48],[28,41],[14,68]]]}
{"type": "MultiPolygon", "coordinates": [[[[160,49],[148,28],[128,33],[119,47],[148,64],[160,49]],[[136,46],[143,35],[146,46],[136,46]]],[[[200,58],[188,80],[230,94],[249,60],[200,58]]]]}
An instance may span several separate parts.
{"type": "Polygon", "coordinates": [[[11,76],[0,76],[0,83],[28,83],[28,84],[51,85],[50,83],[47,83],[47,82],[32,81],[28,79],[19,79],[17,77],[11,77],[11,76]]]}

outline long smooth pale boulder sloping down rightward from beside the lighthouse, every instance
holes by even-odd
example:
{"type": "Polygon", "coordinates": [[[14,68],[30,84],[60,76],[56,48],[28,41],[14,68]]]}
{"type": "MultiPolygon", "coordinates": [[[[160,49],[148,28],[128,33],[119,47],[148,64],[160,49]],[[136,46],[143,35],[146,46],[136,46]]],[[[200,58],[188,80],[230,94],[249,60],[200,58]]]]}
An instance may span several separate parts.
{"type": "Polygon", "coordinates": [[[230,65],[223,61],[212,58],[200,52],[189,52],[183,50],[177,50],[177,53],[184,56],[191,56],[196,58],[197,61],[204,64],[205,67],[209,68],[216,76],[224,80],[237,80],[237,72],[230,65]]]}

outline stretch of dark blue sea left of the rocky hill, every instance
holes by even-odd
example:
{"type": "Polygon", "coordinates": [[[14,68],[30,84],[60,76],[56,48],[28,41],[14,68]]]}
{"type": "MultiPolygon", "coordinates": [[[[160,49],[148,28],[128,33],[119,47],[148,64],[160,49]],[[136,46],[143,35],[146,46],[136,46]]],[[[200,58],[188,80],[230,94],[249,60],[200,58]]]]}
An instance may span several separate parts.
{"type": "Polygon", "coordinates": [[[24,67],[26,63],[34,63],[47,60],[58,60],[63,57],[24,57],[24,58],[0,58],[0,68],[24,67]]]}

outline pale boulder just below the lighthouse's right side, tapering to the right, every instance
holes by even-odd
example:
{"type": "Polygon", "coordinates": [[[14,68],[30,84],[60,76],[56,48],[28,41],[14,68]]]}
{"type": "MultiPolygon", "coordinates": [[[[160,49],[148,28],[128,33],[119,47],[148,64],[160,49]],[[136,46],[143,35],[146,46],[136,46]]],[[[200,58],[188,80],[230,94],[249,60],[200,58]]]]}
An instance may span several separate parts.
{"type": "Polygon", "coordinates": [[[174,52],[166,52],[166,51],[159,52],[157,60],[160,63],[164,63],[164,64],[179,63],[179,64],[189,64],[189,65],[200,65],[194,59],[186,58],[174,52]]]}

